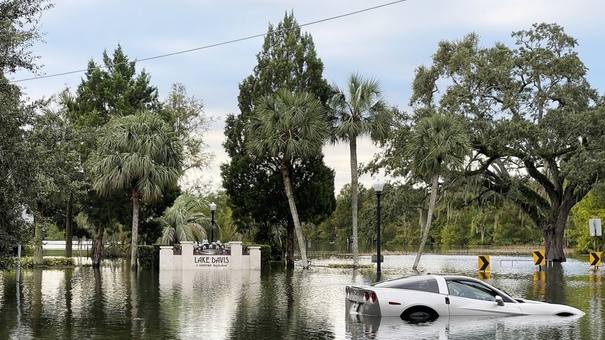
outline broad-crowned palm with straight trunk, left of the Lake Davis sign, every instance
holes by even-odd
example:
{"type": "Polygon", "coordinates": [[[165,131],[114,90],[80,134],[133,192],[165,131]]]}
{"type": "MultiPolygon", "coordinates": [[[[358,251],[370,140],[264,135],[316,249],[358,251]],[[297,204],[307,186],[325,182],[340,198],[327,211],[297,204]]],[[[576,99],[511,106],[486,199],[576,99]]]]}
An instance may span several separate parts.
{"type": "Polygon", "coordinates": [[[181,157],[182,146],[173,128],[151,112],[113,118],[101,129],[89,163],[93,189],[101,196],[130,189],[133,269],[137,265],[140,200],[152,203],[177,184],[181,157]]]}

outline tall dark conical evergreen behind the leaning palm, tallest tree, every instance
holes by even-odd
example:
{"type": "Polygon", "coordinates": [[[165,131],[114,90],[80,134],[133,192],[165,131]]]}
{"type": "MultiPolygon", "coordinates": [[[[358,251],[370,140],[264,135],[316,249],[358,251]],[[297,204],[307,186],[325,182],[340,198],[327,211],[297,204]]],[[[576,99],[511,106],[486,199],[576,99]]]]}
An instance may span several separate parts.
{"type": "MultiPolygon", "coordinates": [[[[286,227],[289,232],[294,229],[284,196],[281,160],[251,157],[246,150],[245,126],[254,116],[257,102],[280,88],[308,93],[325,105],[330,87],[322,78],[323,63],[311,35],[301,33],[293,14],[286,13],[277,27],[269,25],[256,59],[253,74],[239,85],[240,113],[230,114],[226,120],[223,146],[230,160],[221,165],[221,177],[239,230],[255,230],[256,241],[279,247],[271,241],[271,226],[286,227]]],[[[333,171],[323,163],[323,155],[318,155],[293,162],[292,176],[301,220],[319,223],[334,209],[333,171]],[[301,192],[313,192],[314,196],[301,192]]],[[[290,237],[293,241],[293,234],[290,237]]]]}

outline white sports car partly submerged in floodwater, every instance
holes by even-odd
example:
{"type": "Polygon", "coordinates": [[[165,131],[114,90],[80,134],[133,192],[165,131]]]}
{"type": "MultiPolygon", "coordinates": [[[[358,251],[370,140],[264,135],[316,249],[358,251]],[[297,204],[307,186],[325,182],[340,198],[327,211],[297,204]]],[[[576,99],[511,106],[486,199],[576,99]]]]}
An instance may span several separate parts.
{"type": "Polygon", "coordinates": [[[351,314],[396,316],[412,322],[432,321],[446,315],[584,315],[570,306],[513,298],[472,277],[436,274],[347,286],[346,308],[351,314]]]}

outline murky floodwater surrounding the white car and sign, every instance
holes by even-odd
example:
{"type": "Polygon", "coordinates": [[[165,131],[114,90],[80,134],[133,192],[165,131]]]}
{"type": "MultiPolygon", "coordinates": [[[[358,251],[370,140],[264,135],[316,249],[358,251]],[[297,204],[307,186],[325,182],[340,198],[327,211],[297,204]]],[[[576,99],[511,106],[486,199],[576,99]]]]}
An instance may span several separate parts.
{"type": "MultiPolygon", "coordinates": [[[[100,270],[0,273],[0,339],[605,339],[602,273],[588,258],[538,267],[531,256],[491,256],[482,278],[513,296],[563,303],[581,318],[445,318],[410,324],[345,310],[348,284],[376,281],[374,268],[310,254],[309,270],[139,271],[106,261],[100,270]]],[[[411,275],[413,255],[388,255],[382,279],[411,275]]],[[[369,256],[361,258],[370,264],[369,256]]],[[[424,255],[423,272],[478,277],[477,256],[424,255]]]]}

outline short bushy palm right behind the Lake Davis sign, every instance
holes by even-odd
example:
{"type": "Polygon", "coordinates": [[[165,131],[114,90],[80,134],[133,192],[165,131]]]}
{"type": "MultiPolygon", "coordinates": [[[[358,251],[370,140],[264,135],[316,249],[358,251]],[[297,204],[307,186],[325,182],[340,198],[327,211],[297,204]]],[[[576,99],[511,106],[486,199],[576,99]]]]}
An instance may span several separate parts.
{"type": "MultiPolygon", "coordinates": [[[[162,222],[164,232],[163,244],[174,244],[181,241],[201,242],[207,238],[211,228],[211,221],[206,211],[206,200],[184,193],[177,197],[172,206],[164,212],[162,222]]],[[[220,235],[220,228],[217,228],[220,235]]]]}

